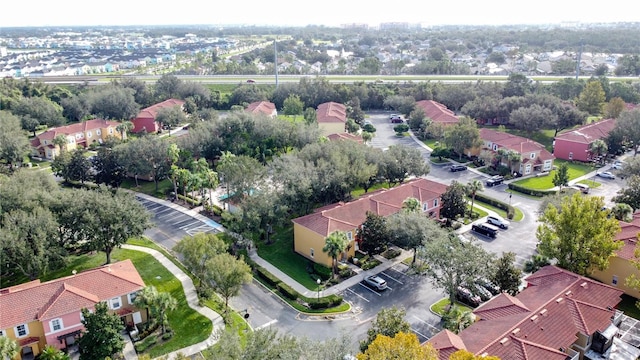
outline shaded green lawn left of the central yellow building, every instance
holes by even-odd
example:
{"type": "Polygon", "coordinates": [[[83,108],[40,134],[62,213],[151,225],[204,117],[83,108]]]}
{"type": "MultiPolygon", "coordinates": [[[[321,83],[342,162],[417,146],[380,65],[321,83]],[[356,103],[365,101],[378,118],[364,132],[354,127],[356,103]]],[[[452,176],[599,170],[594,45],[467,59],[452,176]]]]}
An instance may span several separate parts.
{"type": "Polygon", "coordinates": [[[276,229],[272,239],[275,241],[271,245],[256,242],[258,255],[307,289],[316,290],[317,284],[307,272],[310,260],[293,251],[293,225],[276,229]]]}

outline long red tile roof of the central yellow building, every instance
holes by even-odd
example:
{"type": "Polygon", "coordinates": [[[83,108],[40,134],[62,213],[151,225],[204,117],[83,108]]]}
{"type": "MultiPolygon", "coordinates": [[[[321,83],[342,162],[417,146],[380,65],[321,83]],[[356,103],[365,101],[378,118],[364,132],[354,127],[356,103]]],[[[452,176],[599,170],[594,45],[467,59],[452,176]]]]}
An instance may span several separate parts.
{"type": "MultiPolygon", "coordinates": [[[[313,214],[292,221],[322,236],[334,231],[350,231],[362,225],[367,212],[388,216],[402,210],[402,202],[409,197],[433,202],[446,191],[447,185],[418,178],[391,189],[380,189],[348,203],[337,203],[317,209],[313,214]]],[[[439,202],[440,203],[440,202],[439,202]]]]}

